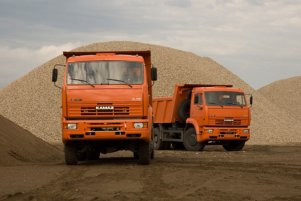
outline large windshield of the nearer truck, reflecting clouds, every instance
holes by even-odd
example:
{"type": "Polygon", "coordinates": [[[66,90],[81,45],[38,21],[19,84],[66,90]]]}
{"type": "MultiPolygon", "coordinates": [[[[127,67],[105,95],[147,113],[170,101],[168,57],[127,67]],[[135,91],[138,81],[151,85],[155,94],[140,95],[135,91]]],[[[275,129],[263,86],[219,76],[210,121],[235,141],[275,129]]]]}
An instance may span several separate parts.
{"type": "Polygon", "coordinates": [[[143,83],[143,68],[141,62],[90,61],[68,64],[67,84],[127,83],[143,83]]]}

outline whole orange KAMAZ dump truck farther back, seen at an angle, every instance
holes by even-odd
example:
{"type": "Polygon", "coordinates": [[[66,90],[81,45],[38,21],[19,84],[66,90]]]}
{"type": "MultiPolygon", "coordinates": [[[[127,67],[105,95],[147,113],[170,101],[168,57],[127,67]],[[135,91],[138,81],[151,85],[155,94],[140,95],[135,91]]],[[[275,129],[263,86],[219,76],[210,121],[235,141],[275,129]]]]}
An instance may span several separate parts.
{"type": "Polygon", "coordinates": [[[231,87],[177,84],[172,97],[154,98],[154,148],[241,150],[250,139],[251,113],[243,90],[231,87]]]}

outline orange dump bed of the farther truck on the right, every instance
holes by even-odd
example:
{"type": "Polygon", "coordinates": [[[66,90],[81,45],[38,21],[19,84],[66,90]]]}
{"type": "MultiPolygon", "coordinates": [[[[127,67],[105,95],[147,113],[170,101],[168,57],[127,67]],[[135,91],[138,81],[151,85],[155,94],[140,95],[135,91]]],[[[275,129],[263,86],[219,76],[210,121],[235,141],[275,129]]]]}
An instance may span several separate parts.
{"type": "Polygon", "coordinates": [[[187,99],[187,91],[192,91],[195,87],[212,86],[232,87],[232,85],[176,84],[173,96],[153,98],[154,123],[175,123],[175,119],[180,119],[177,112],[178,105],[182,100],[187,99]]]}

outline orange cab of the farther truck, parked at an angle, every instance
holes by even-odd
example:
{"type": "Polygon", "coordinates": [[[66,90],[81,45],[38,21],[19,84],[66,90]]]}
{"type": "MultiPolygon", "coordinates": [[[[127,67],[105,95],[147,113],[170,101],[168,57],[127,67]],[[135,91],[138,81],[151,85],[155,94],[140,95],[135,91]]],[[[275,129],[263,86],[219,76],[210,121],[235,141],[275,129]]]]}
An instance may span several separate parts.
{"type": "Polygon", "coordinates": [[[186,122],[198,128],[198,142],[250,139],[250,107],[240,89],[226,86],[194,88],[190,117],[186,122]]]}

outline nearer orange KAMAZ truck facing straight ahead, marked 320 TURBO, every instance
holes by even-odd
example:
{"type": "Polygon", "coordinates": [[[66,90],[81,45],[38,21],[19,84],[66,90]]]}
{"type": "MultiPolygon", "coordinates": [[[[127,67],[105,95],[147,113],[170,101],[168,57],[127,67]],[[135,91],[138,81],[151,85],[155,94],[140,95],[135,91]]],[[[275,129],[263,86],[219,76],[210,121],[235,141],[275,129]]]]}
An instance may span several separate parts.
{"type": "MultiPolygon", "coordinates": [[[[63,52],[62,140],[65,161],[130,150],[140,164],[154,157],[150,51],[63,52]]],[[[52,81],[57,81],[57,68],[52,81]]]]}

